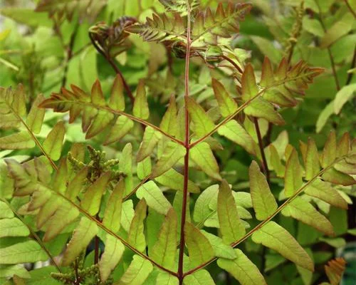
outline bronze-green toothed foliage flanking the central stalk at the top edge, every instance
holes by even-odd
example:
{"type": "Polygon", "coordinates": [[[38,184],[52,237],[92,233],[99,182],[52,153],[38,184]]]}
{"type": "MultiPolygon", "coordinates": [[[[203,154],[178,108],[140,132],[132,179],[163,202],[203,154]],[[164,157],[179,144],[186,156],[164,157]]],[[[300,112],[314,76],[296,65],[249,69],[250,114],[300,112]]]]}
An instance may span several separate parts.
{"type": "MultiPolygon", "coordinates": [[[[162,0],[162,2],[170,11],[176,12],[173,14],[173,18],[167,14],[160,16],[154,14],[152,19],[146,19],[145,24],[131,26],[127,31],[139,33],[145,41],[163,42],[168,46],[173,46],[174,53],[178,57],[182,57],[182,54],[185,53],[184,47],[187,45],[187,25],[182,14],[177,12],[186,9],[187,1],[174,1],[174,4],[170,0],[162,0]]],[[[251,4],[229,3],[224,9],[223,4],[220,3],[215,13],[209,8],[206,11],[199,11],[192,22],[192,56],[198,56],[209,46],[217,46],[220,43],[220,38],[230,38],[233,33],[238,33],[239,21],[243,21],[250,10],[251,4]]]]}

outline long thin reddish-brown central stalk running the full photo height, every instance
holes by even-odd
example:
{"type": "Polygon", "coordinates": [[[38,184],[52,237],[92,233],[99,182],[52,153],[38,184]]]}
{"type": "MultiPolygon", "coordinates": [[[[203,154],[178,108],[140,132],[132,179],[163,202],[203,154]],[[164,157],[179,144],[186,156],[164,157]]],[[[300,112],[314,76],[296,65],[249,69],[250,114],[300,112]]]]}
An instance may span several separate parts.
{"type": "Polygon", "coordinates": [[[184,147],[186,154],[184,156],[184,184],[183,184],[183,201],[182,201],[182,217],[180,224],[180,242],[179,242],[179,259],[178,259],[178,279],[179,285],[183,284],[183,261],[184,261],[184,225],[187,216],[187,200],[188,200],[188,180],[189,180],[189,114],[187,108],[187,98],[189,97],[189,56],[192,40],[190,37],[190,6],[187,0],[187,50],[185,55],[185,75],[184,75],[184,115],[185,115],[185,140],[184,147]]]}

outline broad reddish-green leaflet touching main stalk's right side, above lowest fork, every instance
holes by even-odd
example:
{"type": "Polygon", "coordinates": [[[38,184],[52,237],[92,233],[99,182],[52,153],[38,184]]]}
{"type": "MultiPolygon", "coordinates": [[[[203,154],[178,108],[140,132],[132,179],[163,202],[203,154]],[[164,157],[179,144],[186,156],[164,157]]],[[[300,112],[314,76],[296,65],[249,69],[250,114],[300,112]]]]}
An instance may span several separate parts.
{"type": "Polygon", "coordinates": [[[214,257],[214,249],[209,239],[202,234],[193,224],[187,222],[184,227],[184,236],[192,266],[203,264],[214,257]]]}

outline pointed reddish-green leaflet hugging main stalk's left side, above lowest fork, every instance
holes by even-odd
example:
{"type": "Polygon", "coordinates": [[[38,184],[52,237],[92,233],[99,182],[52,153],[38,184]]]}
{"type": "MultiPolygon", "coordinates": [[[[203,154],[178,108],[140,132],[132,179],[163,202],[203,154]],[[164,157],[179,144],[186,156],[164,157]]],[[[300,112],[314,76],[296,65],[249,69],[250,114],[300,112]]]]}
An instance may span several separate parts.
{"type": "Polygon", "coordinates": [[[161,229],[157,237],[157,242],[153,246],[151,258],[157,264],[167,269],[173,270],[175,255],[177,252],[177,214],[171,207],[167,212],[161,229]]]}

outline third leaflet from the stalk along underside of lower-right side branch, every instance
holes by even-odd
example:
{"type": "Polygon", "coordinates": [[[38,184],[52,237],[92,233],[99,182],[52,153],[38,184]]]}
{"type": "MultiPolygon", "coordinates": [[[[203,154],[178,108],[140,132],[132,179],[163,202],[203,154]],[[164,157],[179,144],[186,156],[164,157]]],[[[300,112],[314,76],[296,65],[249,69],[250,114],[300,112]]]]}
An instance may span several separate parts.
{"type": "Polygon", "coordinates": [[[315,227],[315,229],[329,236],[334,234],[333,225],[328,219],[303,198],[295,197],[295,199],[282,210],[282,214],[298,219],[300,222],[315,227]]]}

